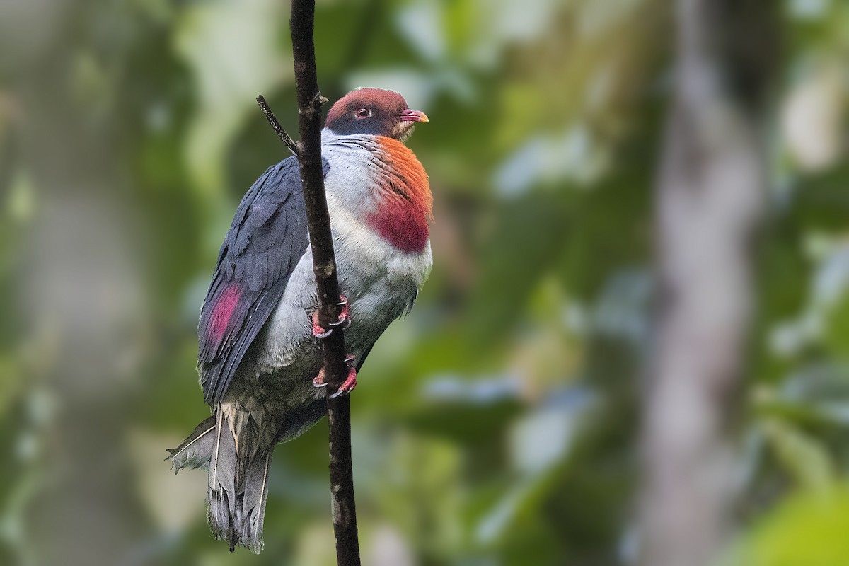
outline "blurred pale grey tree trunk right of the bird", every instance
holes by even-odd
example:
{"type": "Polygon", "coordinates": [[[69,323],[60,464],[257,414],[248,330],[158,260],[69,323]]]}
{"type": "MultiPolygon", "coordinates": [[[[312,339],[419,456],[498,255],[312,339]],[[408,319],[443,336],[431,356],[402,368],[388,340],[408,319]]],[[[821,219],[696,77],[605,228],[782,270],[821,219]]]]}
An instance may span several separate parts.
{"type": "Polygon", "coordinates": [[[675,9],[642,433],[645,566],[713,562],[731,520],[732,432],[755,307],[751,244],[765,201],[763,116],[777,58],[767,4],[678,0],[675,9]]]}

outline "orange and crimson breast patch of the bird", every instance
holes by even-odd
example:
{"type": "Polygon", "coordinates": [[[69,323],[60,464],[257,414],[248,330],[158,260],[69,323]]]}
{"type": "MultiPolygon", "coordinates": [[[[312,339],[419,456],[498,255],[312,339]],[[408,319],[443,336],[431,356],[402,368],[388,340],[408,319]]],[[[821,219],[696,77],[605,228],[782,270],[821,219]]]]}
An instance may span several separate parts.
{"type": "Polygon", "coordinates": [[[409,254],[424,251],[433,195],[424,167],[406,145],[379,137],[377,210],[368,224],[387,242],[409,254]]]}

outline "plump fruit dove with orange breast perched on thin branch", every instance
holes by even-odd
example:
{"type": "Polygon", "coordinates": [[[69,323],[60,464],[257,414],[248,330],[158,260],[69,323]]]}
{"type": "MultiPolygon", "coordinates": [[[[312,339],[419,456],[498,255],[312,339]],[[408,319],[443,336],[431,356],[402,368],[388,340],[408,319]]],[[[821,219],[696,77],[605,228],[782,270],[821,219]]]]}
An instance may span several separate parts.
{"type": "Polygon", "coordinates": [[[166,460],[208,470],[207,518],[230,551],[259,553],[274,447],[347,395],[368,352],[407,313],[430,274],[433,197],[405,142],[428,121],[401,94],[358,88],[328,112],[324,187],[340,279],[348,378],[323,381],[312,252],[295,156],[265,171],[233,216],[201,306],[198,373],[211,417],[166,460]]]}

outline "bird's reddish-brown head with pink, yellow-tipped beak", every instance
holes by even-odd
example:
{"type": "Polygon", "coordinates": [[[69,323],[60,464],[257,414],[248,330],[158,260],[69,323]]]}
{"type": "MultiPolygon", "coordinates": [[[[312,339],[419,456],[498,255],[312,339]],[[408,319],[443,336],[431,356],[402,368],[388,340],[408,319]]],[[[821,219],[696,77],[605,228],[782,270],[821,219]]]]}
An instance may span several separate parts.
{"type": "Polygon", "coordinates": [[[403,142],[413,133],[413,126],[426,121],[424,112],[408,109],[407,101],[397,92],[357,88],[333,105],[326,126],[340,136],[386,136],[403,142]]]}

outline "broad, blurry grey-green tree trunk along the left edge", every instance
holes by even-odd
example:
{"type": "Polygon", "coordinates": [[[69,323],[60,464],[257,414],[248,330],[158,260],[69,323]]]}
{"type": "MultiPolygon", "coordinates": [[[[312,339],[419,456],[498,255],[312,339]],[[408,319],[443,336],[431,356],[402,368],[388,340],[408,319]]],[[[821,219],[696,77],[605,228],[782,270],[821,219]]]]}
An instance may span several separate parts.
{"type": "Polygon", "coordinates": [[[82,95],[77,74],[82,53],[93,53],[86,34],[104,29],[86,25],[98,9],[39,0],[0,18],[3,44],[18,46],[0,69],[20,120],[17,167],[36,195],[14,234],[14,307],[3,313],[20,319],[15,339],[33,360],[22,364],[15,423],[16,443],[27,442],[31,454],[4,456],[8,470],[20,470],[3,486],[11,494],[4,501],[16,502],[3,520],[17,527],[4,542],[22,564],[127,563],[140,534],[150,533],[125,448],[147,354],[136,337],[150,315],[121,132],[108,104],[121,98],[110,98],[115,83],[105,79],[82,95]]]}

